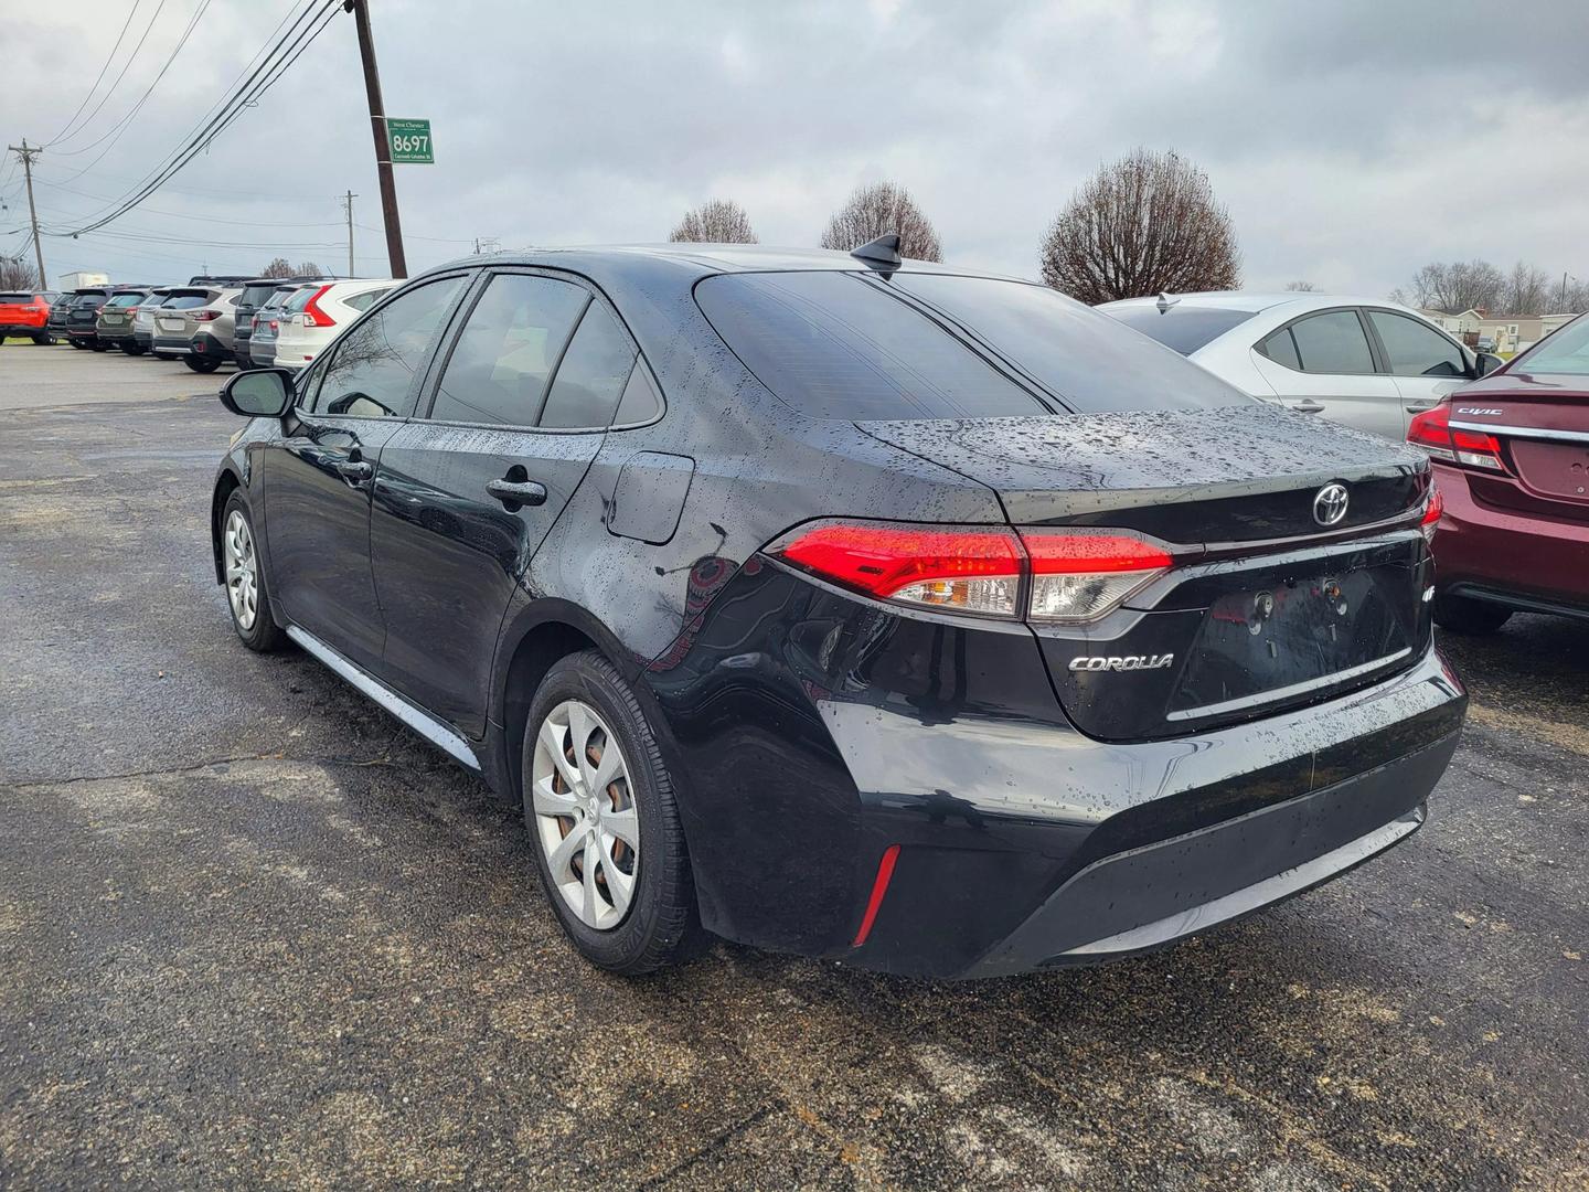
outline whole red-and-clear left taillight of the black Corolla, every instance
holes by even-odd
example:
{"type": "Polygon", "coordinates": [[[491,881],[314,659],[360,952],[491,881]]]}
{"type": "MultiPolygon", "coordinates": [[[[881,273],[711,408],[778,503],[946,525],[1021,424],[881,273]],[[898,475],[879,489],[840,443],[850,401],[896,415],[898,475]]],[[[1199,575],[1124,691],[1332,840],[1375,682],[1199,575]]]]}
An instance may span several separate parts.
{"type": "Polygon", "coordinates": [[[1092,621],[1173,563],[1119,531],[1025,531],[823,521],[772,555],[877,599],[984,617],[1092,621]]]}

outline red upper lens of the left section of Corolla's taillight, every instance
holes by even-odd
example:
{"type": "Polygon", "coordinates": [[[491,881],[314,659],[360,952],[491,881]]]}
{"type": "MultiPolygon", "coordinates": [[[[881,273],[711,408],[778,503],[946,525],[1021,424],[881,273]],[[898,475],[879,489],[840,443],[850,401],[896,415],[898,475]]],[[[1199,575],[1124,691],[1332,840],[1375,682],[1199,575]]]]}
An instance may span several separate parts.
{"type": "Polygon", "coordinates": [[[1020,575],[1020,545],[1004,529],[828,523],[798,531],[775,553],[877,598],[925,580],[1020,575]]]}

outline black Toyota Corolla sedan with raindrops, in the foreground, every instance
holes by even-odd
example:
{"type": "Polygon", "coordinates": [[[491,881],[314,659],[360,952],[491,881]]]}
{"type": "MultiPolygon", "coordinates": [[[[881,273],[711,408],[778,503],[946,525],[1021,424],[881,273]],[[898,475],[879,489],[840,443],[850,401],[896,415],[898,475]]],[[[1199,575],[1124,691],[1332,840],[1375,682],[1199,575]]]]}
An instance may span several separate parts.
{"type": "Polygon", "coordinates": [[[472,259],[234,377],[238,636],[523,806],[621,973],[1096,962],[1416,831],[1427,459],[895,248],[472,259]]]}

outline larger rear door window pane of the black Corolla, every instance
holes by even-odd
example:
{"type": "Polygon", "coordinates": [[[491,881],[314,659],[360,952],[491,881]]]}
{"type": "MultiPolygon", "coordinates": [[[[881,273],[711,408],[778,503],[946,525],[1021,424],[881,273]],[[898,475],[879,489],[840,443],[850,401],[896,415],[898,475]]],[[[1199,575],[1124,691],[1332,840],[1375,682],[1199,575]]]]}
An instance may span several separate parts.
{"type": "Polygon", "coordinates": [[[590,294],[569,281],[534,273],[493,277],[458,334],[431,418],[534,426],[547,380],[588,300],[590,294]]]}

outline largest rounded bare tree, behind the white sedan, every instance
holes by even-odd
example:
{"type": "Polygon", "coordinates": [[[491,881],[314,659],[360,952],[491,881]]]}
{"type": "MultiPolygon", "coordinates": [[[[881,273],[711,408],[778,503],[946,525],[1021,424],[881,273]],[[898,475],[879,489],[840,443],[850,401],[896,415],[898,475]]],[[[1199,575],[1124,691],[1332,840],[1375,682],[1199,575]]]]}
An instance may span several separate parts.
{"type": "Polygon", "coordinates": [[[1100,168],[1049,227],[1041,264],[1044,281],[1090,304],[1241,284],[1230,213],[1173,149],[1100,168]]]}

